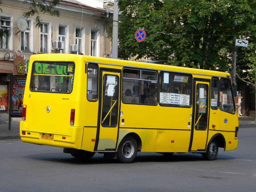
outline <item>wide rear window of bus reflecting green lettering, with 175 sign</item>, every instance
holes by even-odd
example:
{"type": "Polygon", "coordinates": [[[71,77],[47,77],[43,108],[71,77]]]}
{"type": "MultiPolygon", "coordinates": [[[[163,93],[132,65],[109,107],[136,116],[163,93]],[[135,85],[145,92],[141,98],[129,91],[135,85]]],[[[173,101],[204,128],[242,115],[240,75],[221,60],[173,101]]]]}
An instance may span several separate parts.
{"type": "Polygon", "coordinates": [[[31,91],[71,93],[75,65],[73,62],[34,62],[31,91]]]}

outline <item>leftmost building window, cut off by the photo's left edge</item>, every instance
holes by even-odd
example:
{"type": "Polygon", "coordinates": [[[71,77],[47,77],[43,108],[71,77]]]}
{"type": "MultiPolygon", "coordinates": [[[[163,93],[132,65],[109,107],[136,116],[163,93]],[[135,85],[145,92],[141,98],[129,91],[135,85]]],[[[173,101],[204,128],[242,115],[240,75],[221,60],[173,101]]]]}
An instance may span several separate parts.
{"type": "Polygon", "coordinates": [[[11,17],[1,16],[1,33],[3,34],[2,39],[0,40],[1,49],[9,49],[10,41],[10,30],[11,30],[11,17]]]}

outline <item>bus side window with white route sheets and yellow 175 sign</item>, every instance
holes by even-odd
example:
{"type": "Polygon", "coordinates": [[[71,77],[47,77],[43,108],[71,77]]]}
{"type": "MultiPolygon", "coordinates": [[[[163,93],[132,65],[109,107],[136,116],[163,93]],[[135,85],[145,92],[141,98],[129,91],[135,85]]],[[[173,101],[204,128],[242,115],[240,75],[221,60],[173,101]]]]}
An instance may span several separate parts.
{"type": "Polygon", "coordinates": [[[159,104],[161,106],[191,107],[192,77],[188,74],[160,72],[159,104]]]}

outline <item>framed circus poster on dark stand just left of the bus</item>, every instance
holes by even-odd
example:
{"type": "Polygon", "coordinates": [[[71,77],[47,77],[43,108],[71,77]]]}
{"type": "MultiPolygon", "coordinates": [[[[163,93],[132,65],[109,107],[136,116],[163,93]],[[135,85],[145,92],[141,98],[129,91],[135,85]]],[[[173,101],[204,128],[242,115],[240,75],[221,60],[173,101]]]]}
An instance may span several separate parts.
{"type": "Polygon", "coordinates": [[[26,77],[13,76],[11,78],[11,88],[10,94],[12,94],[10,102],[10,114],[12,115],[22,115],[22,106],[23,106],[23,96],[26,84],[26,77]]]}

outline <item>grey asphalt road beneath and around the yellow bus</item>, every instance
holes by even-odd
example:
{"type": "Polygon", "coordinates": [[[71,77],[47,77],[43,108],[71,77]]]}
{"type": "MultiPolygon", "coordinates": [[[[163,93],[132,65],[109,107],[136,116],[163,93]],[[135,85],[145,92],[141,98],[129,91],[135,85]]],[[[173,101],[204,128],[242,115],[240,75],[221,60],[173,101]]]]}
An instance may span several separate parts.
{"type": "Polygon", "coordinates": [[[237,150],[200,154],[138,153],[132,164],[95,154],[79,161],[62,148],[0,141],[0,192],[9,191],[255,191],[256,128],[239,128],[237,150]]]}

